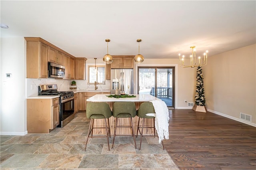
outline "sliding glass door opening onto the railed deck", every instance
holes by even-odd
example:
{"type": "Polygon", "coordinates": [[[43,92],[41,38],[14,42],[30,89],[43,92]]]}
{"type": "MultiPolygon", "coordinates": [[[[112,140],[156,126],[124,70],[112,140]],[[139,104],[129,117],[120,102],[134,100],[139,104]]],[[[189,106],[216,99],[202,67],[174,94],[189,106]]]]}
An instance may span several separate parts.
{"type": "Polygon", "coordinates": [[[153,95],[174,107],[174,67],[138,67],[138,93],[153,95]]]}

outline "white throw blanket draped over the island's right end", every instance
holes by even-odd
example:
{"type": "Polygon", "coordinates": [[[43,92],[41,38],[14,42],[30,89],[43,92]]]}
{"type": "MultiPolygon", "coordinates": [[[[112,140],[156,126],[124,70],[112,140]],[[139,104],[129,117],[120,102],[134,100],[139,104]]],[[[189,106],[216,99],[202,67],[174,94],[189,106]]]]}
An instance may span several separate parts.
{"type": "Polygon", "coordinates": [[[155,126],[158,133],[159,143],[164,139],[169,139],[169,111],[166,103],[162,100],[150,101],[155,109],[155,126]]]}

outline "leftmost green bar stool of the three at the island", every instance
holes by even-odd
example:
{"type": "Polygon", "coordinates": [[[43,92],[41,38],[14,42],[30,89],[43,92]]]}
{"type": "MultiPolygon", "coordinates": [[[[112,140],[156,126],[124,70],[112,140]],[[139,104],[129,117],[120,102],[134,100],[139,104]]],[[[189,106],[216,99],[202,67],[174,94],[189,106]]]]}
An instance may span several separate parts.
{"type": "MultiPolygon", "coordinates": [[[[110,125],[109,125],[109,119],[112,116],[112,111],[110,110],[110,107],[107,103],[87,103],[86,104],[86,117],[88,119],[91,119],[90,121],[90,126],[89,126],[89,130],[88,130],[88,134],[87,134],[87,140],[86,140],[86,144],[85,144],[85,148],[84,151],[86,151],[86,146],[87,146],[87,142],[88,142],[88,138],[92,136],[90,136],[90,134],[93,133],[93,129],[94,128],[105,128],[106,129],[106,137],[107,137],[107,141],[108,141],[108,150],[110,150],[109,147],[109,140],[108,140],[108,134],[110,137],[110,125]],[[94,127],[94,119],[105,119],[105,127],[94,127]],[[108,126],[107,126],[107,121],[106,119],[108,119],[108,126]]],[[[94,137],[102,137],[102,136],[94,136],[94,137]]]]}

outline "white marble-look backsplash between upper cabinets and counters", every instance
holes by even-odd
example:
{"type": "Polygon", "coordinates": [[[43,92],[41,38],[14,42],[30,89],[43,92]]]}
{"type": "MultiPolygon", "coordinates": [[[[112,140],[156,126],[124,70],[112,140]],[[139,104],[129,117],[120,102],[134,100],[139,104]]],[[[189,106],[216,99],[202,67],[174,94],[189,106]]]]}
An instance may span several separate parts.
{"type": "MultiPolygon", "coordinates": [[[[70,84],[72,80],[62,79],[26,79],[26,97],[38,95],[38,86],[46,84],[57,84],[58,91],[70,91],[70,84]]],[[[94,89],[93,84],[87,84],[87,80],[75,80],[77,90],[94,89]]],[[[110,89],[110,80],[106,80],[106,84],[98,84],[98,89],[110,89]]]]}

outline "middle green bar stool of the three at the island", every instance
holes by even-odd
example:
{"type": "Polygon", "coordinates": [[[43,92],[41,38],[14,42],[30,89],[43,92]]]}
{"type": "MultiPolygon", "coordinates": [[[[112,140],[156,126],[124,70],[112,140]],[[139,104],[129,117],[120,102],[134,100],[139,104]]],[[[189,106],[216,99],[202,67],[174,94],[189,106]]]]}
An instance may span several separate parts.
{"type": "Polygon", "coordinates": [[[114,130],[114,138],[113,138],[112,148],[113,148],[114,142],[115,142],[116,129],[118,127],[126,127],[126,128],[128,127],[128,128],[132,128],[132,136],[134,139],[134,144],[135,144],[135,149],[136,149],[137,146],[136,146],[136,140],[135,140],[135,135],[134,135],[133,123],[132,123],[132,117],[136,116],[136,107],[135,107],[134,102],[115,102],[115,103],[113,103],[112,115],[113,115],[113,117],[116,118],[116,126],[115,126],[115,130],[114,130]],[[119,118],[130,118],[131,126],[117,126],[119,118]]]}

